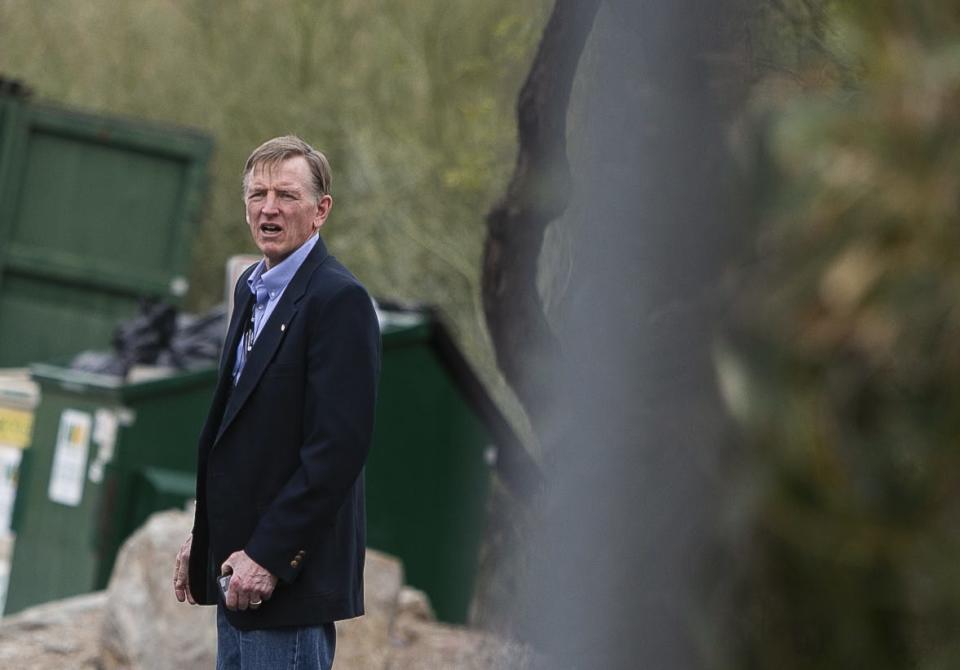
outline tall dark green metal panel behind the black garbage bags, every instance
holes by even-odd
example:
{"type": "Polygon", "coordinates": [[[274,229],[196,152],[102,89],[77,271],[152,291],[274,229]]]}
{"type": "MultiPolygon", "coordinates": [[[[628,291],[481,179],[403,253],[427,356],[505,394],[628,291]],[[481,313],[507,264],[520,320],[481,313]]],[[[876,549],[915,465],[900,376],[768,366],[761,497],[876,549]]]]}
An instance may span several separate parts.
{"type": "Polygon", "coordinates": [[[212,149],[0,92],[0,367],[106,348],[141,298],[179,302],[212,149]]]}

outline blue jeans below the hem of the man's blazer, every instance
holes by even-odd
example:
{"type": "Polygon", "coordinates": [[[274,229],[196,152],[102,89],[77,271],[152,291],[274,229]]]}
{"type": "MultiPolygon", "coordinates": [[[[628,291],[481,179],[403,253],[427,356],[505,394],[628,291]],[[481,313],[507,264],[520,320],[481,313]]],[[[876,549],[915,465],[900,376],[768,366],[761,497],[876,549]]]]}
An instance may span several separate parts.
{"type": "Polygon", "coordinates": [[[330,670],[336,646],[333,623],[239,630],[217,605],[217,670],[330,670]]]}

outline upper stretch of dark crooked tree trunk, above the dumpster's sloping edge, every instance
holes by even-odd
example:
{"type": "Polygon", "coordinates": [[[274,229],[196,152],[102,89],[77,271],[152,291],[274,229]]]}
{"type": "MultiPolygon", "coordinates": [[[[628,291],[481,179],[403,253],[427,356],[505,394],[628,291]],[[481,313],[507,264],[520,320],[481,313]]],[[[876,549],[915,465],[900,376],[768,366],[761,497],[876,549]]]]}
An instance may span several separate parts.
{"type": "Polygon", "coordinates": [[[517,101],[520,149],[506,195],[487,216],[483,307],[497,363],[542,436],[557,341],[537,290],[547,225],[569,201],[566,117],[600,0],[557,0],[517,101]]]}

